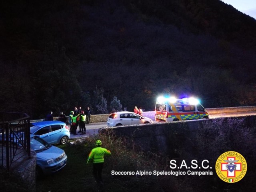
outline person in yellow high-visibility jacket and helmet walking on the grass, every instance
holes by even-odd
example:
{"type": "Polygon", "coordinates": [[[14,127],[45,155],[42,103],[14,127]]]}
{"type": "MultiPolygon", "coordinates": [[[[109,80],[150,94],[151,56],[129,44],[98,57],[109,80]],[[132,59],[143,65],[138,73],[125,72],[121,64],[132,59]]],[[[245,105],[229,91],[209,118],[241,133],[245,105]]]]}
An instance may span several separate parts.
{"type": "Polygon", "coordinates": [[[101,140],[95,142],[96,148],[93,148],[89,154],[87,164],[93,161],[92,172],[96,182],[102,184],[102,169],[104,165],[104,156],[105,154],[111,155],[110,150],[102,148],[101,140]]]}

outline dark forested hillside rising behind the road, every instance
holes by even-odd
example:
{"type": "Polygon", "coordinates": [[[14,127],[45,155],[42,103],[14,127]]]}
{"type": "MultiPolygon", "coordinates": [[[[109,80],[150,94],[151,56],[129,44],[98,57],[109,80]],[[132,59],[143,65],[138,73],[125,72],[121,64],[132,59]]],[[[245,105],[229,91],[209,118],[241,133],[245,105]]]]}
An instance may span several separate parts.
{"type": "Polygon", "coordinates": [[[0,2],[0,110],[256,104],[256,20],[219,0],[0,2]]]}

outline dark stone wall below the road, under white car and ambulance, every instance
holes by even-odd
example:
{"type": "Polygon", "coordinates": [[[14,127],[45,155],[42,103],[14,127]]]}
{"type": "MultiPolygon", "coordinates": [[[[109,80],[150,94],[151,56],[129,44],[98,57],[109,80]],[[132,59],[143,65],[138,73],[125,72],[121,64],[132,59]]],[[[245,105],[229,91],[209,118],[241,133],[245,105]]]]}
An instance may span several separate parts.
{"type": "MultiPolygon", "coordinates": [[[[256,126],[256,116],[244,116],[246,126],[254,128],[256,126]]],[[[219,118],[225,119],[228,118],[219,118]]],[[[231,117],[232,119],[232,117],[231,117]]],[[[234,117],[234,120],[238,119],[234,117]]],[[[125,136],[133,140],[134,144],[143,151],[166,153],[173,150],[171,146],[184,145],[188,142],[188,149],[190,148],[189,142],[193,142],[193,134],[198,134],[198,129],[206,121],[211,122],[216,119],[200,119],[200,120],[186,120],[167,123],[155,124],[142,124],[134,126],[118,126],[114,128],[102,128],[99,130],[100,134],[106,132],[113,132],[116,136],[125,136]],[[179,134],[177,134],[179,132],[179,134]],[[182,136],[181,136],[182,135],[182,136]],[[180,137],[180,140],[177,139],[180,137]],[[183,140],[182,138],[190,138],[190,140],[183,140]],[[174,143],[174,140],[177,143],[174,143]]],[[[207,137],[207,136],[206,136],[207,137]]]]}

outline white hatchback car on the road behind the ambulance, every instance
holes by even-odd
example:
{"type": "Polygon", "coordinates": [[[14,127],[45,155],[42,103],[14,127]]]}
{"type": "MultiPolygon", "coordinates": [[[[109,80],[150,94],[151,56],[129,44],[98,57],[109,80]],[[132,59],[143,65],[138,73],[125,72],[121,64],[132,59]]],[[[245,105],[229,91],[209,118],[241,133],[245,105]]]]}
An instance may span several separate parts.
{"type": "Polygon", "coordinates": [[[107,125],[109,127],[146,123],[153,123],[153,120],[147,117],[142,117],[134,112],[128,111],[112,113],[108,117],[107,121],[107,125]]]}

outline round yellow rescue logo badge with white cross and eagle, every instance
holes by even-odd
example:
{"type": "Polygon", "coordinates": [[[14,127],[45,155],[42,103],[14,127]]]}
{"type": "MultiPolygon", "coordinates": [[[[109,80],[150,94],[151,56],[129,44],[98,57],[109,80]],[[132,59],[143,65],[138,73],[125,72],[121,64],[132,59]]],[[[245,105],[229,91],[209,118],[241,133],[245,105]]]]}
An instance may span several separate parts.
{"type": "Polygon", "coordinates": [[[221,180],[235,183],[245,176],[247,164],[245,158],[240,153],[228,151],[219,156],[215,169],[221,180]]]}

